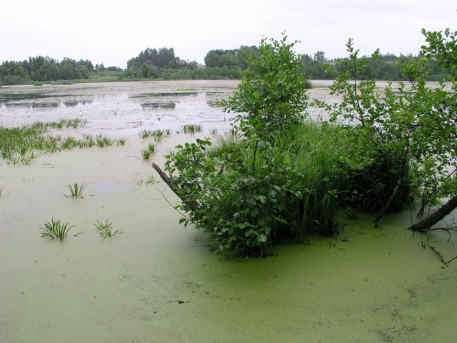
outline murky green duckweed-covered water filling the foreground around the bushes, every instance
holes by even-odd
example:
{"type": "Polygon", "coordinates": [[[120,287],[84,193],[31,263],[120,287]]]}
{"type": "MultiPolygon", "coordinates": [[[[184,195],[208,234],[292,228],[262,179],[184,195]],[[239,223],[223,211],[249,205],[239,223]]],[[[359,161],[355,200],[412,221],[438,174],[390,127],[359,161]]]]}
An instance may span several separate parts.
{"type": "MultiPolygon", "coordinates": [[[[168,93],[194,89],[169,87],[168,93]]],[[[172,106],[175,95],[160,96],[172,106]]],[[[208,102],[207,95],[192,99],[208,102]]],[[[30,121],[61,118],[49,108],[28,110],[30,121]]],[[[140,104],[132,117],[141,111],[140,104]]],[[[27,121],[12,110],[0,115],[3,122],[27,121]]],[[[221,259],[204,233],[178,225],[180,215],[168,204],[178,199],[166,185],[146,182],[154,171],[140,158],[147,143],[137,135],[141,126],[126,121],[113,132],[114,114],[106,121],[92,115],[82,131],[123,132],[126,146],[42,154],[30,165],[0,161],[1,341],[455,340],[457,263],[445,267],[430,249],[450,259],[457,255],[454,237],[405,230],[408,213],[387,216],[375,230],[367,215],[342,219],[338,237],[283,244],[265,259],[221,259]],[[88,185],[84,198],[62,194],[71,182],[88,185]],[[51,218],[75,225],[63,241],[40,237],[51,218]],[[100,237],[97,220],[112,221],[121,234],[100,237]]],[[[159,144],[154,162],[163,165],[164,154],[194,139],[173,134],[159,144]]]]}

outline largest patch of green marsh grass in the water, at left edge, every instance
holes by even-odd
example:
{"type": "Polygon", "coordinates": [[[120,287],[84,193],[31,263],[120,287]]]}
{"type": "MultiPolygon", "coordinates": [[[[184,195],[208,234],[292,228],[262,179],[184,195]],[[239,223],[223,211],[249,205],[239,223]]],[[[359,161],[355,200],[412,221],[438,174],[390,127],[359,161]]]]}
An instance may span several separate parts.
{"type": "Polygon", "coordinates": [[[106,147],[115,143],[114,139],[100,134],[95,138],[90,134],[83,134],[82,139],[49,134],[49,128],[75,128],[84,126],[85,123],[86,121],[80,119],[62,119],[50,123],[37,121],[16,128],[0,126],[0,157],[8,163],[29,164],[38,156],[37,152],[60,152],[75,147],[106,147]]]}

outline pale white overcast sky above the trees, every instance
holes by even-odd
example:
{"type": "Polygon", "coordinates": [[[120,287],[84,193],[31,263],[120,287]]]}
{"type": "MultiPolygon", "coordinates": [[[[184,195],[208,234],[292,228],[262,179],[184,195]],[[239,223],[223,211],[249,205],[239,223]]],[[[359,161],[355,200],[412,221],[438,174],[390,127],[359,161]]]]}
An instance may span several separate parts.
{"type": "Polygon", "coordinates": [[[0,0],[0,62],[28,56],[89,59],[125,68],[146,47],[203,63],[211,49],[301,40],[296,52],[414,54],[421,28],[457,29],[455,0],[0,0]]]}

